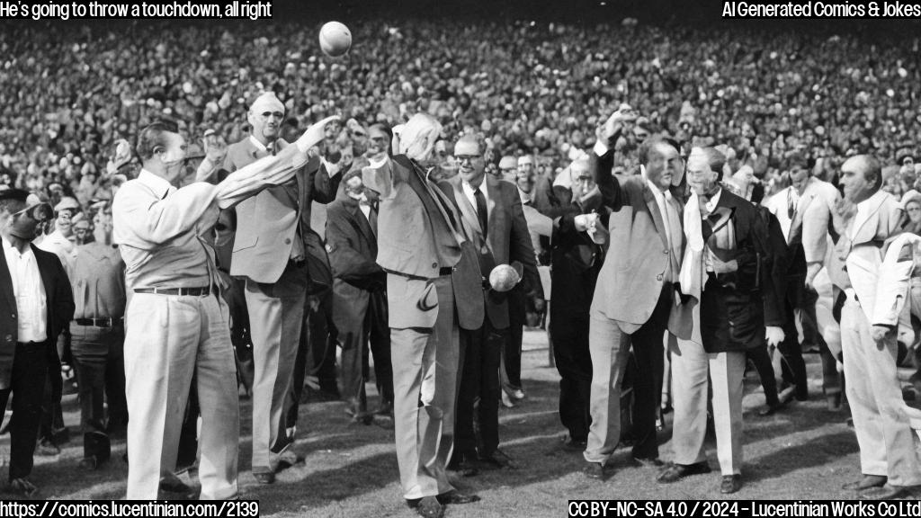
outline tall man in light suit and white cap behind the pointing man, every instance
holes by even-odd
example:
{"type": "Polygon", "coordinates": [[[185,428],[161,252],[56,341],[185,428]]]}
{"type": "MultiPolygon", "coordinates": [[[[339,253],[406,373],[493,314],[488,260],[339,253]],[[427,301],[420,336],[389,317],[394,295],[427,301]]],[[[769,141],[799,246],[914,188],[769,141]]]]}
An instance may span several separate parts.
{"type": "MultiPolygon", "coordinates": [[[[285,105],[271,92],[253,101],[249,137],[227,147],[224,169],[237,171],[257,159],[284,150],[279,137],[285,105]]],[[[266,189],[237,206],[237,235],[230,275],[246,277],[253,349],[252,475],[261,484],[297,463],[289,449],[294,437],[285,426],[285,400],[290,391],[309,284],[310,203],[328,203],[339,186],[320,159],[310,159],[295,179],[266,189]]]]}

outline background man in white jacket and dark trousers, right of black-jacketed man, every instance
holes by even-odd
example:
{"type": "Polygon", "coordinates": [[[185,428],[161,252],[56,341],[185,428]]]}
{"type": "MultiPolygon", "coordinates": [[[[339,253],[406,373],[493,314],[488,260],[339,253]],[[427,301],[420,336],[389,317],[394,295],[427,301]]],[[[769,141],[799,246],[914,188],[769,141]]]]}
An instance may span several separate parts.
{"type": "Polygon", "coordinates": [[[818,343],[822,355],[822,388],[830,408],[841,406],[841,379],[837,362],[822,334],[816,329],[815,303],[818,294],[812,279],[822,269],[828,251],[832,210],[841,195],[834,185],[811,175],[814,164],[800,153],[787,157],[792,184],[771,197],[765,206],[774,213],[787,240],[787,301],[784,342],[778,347],[784,355],[783,375],[796,385],[796,398],[808,398],[806,364],[797,339],[796,314],[801,315],[806,339],[818,343]]]}

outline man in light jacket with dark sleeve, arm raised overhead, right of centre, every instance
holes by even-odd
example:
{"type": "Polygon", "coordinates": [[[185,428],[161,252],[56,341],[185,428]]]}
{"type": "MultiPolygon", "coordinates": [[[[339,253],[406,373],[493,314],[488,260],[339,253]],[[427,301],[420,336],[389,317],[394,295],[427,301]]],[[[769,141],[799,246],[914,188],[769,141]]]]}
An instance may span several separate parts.
{"type": "MultiPolygon", "coordinates": [[[[640,149],[643,174],[619,181],[611,174],[612,143],[624,122],[635,118],[622,106],[600,127],[589,168],[602,205],[612,213],[607,223],[611,247],[595,288],[589,324],[591,351],[591,426],[585,450],[589,477],[607,477],[607,462],[620,441],[620,393],[631,345],[639,375],[635,381],[635,462],[658,466],[656,417],[663,370],[665,330],[687,336],[689,319],[680,318],[674,284],[681,268],[684,237],[682,202],[673,193],[673,180],[682,173],[676,143],[649,139],[640,149]],[[657,383],[658,381],[658,383],[657,383]]],[[[675,182],[677,183],[677,182],[675,182]]],[[[674,189],[677,191],[677,189],[674,189]]],[[[561,231],[591,228],[597,215],[560,219],[561,231]]]]}

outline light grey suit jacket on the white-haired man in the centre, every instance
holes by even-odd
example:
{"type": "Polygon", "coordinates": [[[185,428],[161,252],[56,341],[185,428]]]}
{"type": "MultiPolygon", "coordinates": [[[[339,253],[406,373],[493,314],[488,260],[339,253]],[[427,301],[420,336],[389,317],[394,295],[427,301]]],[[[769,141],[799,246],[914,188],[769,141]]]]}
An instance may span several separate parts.
{"type": "Polygon", "coordinates": [[[404,155],[364,168],[362,179],[380,195],[378,265],[391,274],[387,276],[391,328],[435,325],[437,292],[432,280],[441,267],[452,266],[458,324],[479,329],[484,319],[483,276],[472,243],[459,234],[461,216],[449,197],[404,155]],[[445,219],[434,197],[449,211],[453,223],[445,219]]]}

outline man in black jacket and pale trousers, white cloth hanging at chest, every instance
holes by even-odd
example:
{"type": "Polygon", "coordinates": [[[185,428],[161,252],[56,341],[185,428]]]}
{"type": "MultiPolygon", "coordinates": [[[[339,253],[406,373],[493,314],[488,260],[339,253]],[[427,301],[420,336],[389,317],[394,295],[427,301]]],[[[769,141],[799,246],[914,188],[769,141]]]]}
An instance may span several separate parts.
{"type": "Polygon", "coordinates": [[[764,347],[765,340],[779,344],[784,316],[767,222],[751,202],[722,188],[725,163],[712,147],[694,147],[688,159],[693,194],[684,208],[687,251],[680,281],[691,298],[686,305],[694,332],[671,348],[675,458],[659,482],[710,471],[704,450],[709,377],[720,491],[734,493],[741,488],[745,352],[764,347]]]}

